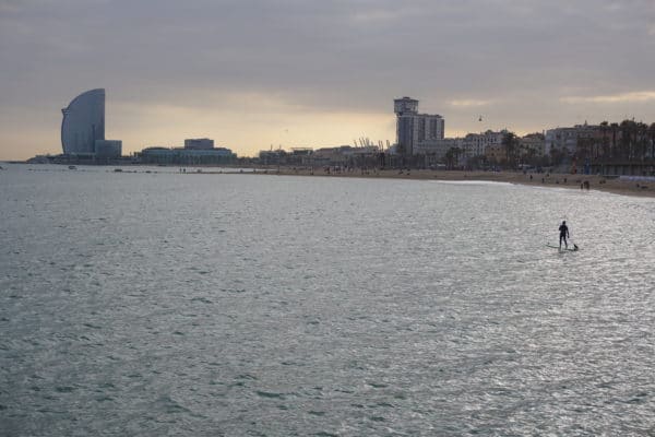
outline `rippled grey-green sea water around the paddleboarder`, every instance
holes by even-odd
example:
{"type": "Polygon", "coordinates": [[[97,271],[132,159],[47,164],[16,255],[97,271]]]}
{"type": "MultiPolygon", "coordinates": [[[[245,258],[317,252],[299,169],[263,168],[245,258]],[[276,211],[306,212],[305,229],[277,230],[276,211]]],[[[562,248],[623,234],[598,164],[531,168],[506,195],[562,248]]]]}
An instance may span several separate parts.
{"type": "Polygon", "coordinates": [[[3,167],[0,435],[655,435],[653,199],[3,167]]]}

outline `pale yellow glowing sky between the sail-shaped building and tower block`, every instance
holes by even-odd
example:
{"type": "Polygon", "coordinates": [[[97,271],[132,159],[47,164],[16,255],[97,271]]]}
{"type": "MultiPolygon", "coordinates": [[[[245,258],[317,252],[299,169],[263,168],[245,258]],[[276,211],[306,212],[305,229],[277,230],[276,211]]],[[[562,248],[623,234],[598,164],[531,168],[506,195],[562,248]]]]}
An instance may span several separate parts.
{"type": "Polygon", "coordinates": [[[242,97],[202,107],[122,102],[110,109],[108,105],[108,134],[122,132],[123,153],[181,146],[187,138],[206,137],[240,156],[254,156],[271,146],[318,149],[352,145],[361,137],[374,143],[395,139],[393,114],[315,111],[272,96],[242,97]]]}

